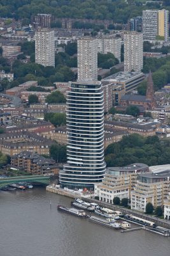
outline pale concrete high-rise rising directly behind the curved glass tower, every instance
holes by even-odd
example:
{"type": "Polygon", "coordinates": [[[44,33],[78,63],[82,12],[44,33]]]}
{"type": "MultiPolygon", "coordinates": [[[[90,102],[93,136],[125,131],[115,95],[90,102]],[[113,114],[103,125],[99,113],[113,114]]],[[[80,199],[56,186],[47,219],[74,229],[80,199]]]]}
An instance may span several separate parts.
{"type": "Polygon", "coordinates": [[[77,42],[78,81],[97,81],[97,38],[85,36],[77,42]]]}

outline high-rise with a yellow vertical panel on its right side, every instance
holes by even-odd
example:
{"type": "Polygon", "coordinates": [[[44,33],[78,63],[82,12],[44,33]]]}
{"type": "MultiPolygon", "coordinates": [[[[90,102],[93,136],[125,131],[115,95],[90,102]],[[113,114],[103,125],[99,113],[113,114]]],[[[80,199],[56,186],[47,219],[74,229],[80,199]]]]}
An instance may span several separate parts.
{"type": "Polygon", "coordinates": [[[167,10],[145,10],[143,11],[143,39],[152,41],[164,37],[168,40],[169,11],[167,10]]]}

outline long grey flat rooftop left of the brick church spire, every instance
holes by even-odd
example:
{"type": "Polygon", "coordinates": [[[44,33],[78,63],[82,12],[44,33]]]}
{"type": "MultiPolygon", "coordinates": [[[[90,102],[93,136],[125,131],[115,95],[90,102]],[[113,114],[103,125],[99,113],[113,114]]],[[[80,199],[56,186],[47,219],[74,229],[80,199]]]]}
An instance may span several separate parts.
{"type": "Polygon", "coordinates": [[[115,73],[111,76],[107,76],[101,81],[126,82],[131,80],[132,78],[136,78],[139,76],[144,76],[144,74],[142,72],[122,71],[122,72],[115,73]]]}

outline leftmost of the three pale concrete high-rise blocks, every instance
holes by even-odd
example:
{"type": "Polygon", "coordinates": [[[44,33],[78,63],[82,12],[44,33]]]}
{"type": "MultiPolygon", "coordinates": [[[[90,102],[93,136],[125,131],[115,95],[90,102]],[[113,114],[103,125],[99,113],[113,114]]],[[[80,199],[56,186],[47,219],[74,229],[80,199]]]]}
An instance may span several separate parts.
{"type": "Polygon", "coordinates": [[[55,67],[54,31],[44,28],[35,33],[36,63],[55,67]]]}

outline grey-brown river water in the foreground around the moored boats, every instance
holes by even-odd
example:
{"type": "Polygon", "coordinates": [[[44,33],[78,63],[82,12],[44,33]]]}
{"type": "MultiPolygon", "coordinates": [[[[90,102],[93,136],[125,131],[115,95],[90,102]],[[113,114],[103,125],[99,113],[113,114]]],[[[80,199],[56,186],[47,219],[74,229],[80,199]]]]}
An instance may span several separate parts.
{"type": "Polygon", "coordinates": [[[169,237],[145,230],[120,233],[56,210],[70,202],[45,188],[1,191],[0,256],[170,255],[169,237]]]}

